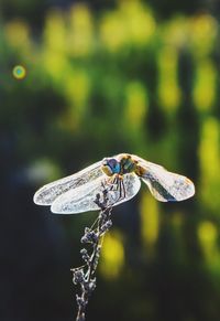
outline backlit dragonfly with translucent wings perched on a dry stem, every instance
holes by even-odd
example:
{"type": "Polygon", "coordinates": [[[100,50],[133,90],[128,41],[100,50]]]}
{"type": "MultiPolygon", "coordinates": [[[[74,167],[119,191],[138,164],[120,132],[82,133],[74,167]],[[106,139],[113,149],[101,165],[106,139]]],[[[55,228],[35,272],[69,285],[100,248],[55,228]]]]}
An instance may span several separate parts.
{"type": "Polygon", "coordinates": [[[195,194],[195,185],[188,178],[135,154],[120,153],[44,185],[33,200],[37,205],[50,205],[52,213],[77,214],[100,210],[96,199],[105,189],[108,206],[131,200],[138,194],[141,181],[161,202],[184,201],[195,194]]]}

